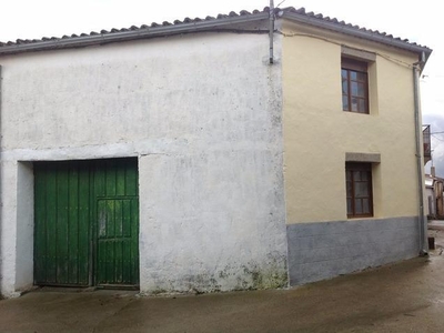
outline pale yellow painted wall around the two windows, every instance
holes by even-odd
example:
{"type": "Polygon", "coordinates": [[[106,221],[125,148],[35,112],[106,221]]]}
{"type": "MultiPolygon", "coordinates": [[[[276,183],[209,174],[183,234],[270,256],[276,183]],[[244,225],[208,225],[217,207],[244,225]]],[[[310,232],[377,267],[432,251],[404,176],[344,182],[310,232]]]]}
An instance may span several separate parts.
{"type": "Polygon", "coordinates": [[[417,215],[415,54],[285,21],[284,178],[287,223],[346,220],[345,153],[380,153],[374,218],[417,215]],[[375,52],[371,114],[342,111],[341,44],[375,52]]]}

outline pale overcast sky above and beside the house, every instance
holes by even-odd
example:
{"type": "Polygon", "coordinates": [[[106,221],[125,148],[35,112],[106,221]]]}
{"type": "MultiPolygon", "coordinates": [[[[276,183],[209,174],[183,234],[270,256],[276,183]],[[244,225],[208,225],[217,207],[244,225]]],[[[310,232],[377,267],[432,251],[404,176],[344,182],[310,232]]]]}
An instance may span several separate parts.
{"type": "MultiPolygon", "coordinates": [[[[282,0],[275,0],[279,4],[282,0]]],[[[285,0],[280,7],[304,7],[367,29],[384,31],[434,50],[421,80],[424,123],[444,131],[444,38],[441,1],[285,0]]],[[[62,37],[111,28],[204,18],[243,9],[262,10],[269,0],[0,0],[0,41],[62,37]]],[[[444,134],[433,140],[442,158],[444,134]]],[[[444,174],[441,174],[444,176],[444,174]]]]}

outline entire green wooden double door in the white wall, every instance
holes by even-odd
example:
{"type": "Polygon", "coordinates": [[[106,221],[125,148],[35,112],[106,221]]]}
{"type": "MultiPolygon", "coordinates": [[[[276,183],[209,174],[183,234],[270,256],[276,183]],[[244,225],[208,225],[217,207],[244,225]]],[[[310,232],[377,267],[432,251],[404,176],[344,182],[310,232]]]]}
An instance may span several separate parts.
{"type": "Polygon", "coordinates": [[[34,163],[36,284],[139,284],[137,170],[137,159],[34,163]]]}

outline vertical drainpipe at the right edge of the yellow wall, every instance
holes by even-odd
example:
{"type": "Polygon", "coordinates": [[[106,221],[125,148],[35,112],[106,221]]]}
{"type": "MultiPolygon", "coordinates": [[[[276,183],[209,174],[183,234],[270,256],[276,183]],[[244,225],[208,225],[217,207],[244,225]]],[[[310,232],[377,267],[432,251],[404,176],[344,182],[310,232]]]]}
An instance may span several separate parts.
{"type": "Polygon", "coordinates": [[[418,72],[421,67],[424,65],[424,52],[421,54],[421,61],[413,64],[413,98],[415,109],[415,137],[416,137],[416,168],[417,168],[417,186],[420,195],[420,255],[428,255],[428,249],[425,246],[425,219],[424,219],[424,181],[423,181],[423,165],[422,165],[422,148],[421,148],[421,120],[420,120],[420,89],[418,89],[418,72]]]}

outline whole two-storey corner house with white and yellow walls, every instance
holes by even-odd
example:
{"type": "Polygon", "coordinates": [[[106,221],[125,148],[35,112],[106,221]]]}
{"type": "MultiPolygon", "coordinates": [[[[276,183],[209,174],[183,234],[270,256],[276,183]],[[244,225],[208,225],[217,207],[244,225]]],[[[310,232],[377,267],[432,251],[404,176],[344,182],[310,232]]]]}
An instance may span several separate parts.
{"type": "Polygon", "coordinates": [[[293,8],[1,43],[1,293],[281,287],[418,255],[431,52],[293,8]]]}

